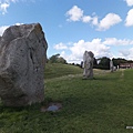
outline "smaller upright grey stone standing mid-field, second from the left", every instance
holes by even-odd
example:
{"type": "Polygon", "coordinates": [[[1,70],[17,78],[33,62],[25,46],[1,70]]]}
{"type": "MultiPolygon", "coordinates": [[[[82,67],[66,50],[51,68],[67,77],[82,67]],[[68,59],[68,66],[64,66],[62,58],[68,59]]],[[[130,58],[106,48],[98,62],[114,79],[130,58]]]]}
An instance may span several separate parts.
{"type": "Polygon", "coordinates": [[[93,79],[93,61],[94,54],[91,51],[85,51],[83,54],[84,79],[93,79]]]}

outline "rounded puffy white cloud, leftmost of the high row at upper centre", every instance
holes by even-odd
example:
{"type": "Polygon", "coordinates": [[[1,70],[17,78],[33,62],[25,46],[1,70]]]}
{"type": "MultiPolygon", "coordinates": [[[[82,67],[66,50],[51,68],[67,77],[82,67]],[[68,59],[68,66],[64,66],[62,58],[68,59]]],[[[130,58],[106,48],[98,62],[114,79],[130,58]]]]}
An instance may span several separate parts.
{"type": "Polygon", "coordinates": [[[83,17],[83,10],[78,6],[73,6],[72,9],[66,12],[66,16],[70,17],[68,21],[80,21],[83,17]]]}

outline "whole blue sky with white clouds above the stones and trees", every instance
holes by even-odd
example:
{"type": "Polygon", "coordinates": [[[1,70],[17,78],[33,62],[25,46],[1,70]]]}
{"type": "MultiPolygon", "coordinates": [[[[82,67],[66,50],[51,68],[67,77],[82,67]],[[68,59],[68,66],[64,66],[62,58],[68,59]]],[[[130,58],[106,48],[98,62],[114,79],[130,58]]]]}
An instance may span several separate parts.
{"type": "Polygon", "coordinates": [[[133,60],[133,0],[0,0],[0,35],[14,24],[39,22],[47,55],[80,63],[94,57],[133,60]]]}

